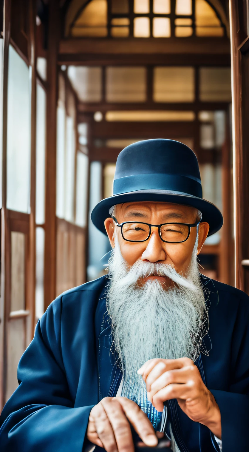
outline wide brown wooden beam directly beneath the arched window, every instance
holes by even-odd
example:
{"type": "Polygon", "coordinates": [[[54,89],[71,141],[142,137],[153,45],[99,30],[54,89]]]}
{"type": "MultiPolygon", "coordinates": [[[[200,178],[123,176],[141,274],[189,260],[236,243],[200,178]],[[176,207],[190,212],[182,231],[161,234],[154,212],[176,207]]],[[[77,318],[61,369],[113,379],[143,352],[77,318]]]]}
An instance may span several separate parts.
{"type": "Polygon", "coordinates": [[[61,39],[60,54],[230,54],[227,38],[67,38],[61,39]]]}

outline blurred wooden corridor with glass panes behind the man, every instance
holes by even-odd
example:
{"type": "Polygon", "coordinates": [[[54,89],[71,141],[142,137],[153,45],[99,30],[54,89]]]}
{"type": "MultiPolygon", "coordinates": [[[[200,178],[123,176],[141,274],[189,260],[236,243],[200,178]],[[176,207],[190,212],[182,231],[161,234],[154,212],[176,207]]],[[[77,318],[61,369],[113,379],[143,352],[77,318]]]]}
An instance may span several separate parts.
{"type": "Polygon", "coordinates": [[[90,213],[125,146],[193,149],[203,198],[224,216],[201,271],[231,285],[237,179],[227,0],[0,0],[0,25],[3,404],[47,306],[105,272],[110,245],[90,213]]]}

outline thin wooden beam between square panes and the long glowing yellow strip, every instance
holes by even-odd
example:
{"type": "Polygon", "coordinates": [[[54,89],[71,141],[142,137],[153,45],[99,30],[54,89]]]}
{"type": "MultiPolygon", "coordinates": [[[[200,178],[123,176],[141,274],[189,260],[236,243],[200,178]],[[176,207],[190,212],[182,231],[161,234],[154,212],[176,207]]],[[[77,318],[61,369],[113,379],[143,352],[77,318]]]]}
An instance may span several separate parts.
{"type": "Polygon", "coordinates": [[[226,110],[228,102],[184,102],[184,103],[165,103],[165,102],[141,102],[141,103],[116,103],[108,102],[99,103],[78,103],[78,113],[95,113],[97,111],[106,112],[112,110],[180,110],[180,111],[194,111],[201,110],[226,110]]]}

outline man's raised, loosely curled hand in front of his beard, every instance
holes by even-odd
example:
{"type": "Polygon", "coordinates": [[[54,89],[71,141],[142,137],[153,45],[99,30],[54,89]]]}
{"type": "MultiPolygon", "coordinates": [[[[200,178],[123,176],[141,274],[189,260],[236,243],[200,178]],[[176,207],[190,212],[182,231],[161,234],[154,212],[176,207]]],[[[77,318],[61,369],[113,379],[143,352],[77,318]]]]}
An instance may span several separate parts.
{"type": "Polygon", "coordinates": [[[176,399],[190,419],[206,425],[221,439],[220,409],[191,359],[150,359],[138,373],[157,411],[163,410],[166,400],[176,399]]]}

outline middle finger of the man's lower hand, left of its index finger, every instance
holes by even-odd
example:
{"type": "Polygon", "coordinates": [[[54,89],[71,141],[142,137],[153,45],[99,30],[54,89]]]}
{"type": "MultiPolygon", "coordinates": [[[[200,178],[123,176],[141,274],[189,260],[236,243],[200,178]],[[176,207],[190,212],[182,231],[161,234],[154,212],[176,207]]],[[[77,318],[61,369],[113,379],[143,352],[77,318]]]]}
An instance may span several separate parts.
{"type": "MultiPolygon", "coordinates": [[[[103,440],[101,436],[100,439],[107,452],[112,452],[114,450],[117,450],[118,452],[134,452],[134,444],[129,422],[125,416],[122,405],[116,399],[117,398],[113,398],[111,400],[101,400],[115,437],[116,449],[112,449],[113,441],[111,441],[112,444],[111,446],[108,445],[109,448],[107,449],[105,440],[103,440]]],[[[108,434],[110,433],[108,432],[108,434]]]]}

